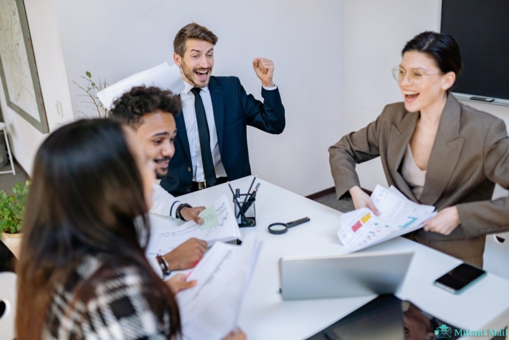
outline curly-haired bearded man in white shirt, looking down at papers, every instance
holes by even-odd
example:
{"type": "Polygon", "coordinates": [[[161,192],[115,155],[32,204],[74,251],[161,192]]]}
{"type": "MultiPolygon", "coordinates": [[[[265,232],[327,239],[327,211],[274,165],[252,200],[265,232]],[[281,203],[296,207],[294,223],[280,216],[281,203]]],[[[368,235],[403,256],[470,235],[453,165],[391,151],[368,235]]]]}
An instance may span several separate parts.
{"type": "MultiPolygon", "coordinates": [[[[175,153],[173,142],[177,128],[174,114],[180,111],[181,101],[178,95],[156,87],[139,86],[115,100],[109,117],[120,120],[135,130],[148,158],[155,162],[156,177],[162,178],[166,175],[169,161],[175,153]]],[[[203,219],[198,214],[205,210],[204,206],[192,207],[176,199],[158,184],[154,183],[153,187],[153,206],[150,212],[203,224],[203,219]]],[[[167,271],[163,270],[163,275],[170,271],[194,267],[206,250],[207,242],[196,238],[187,240],[161,256],[167,267],[167,271]]]]}

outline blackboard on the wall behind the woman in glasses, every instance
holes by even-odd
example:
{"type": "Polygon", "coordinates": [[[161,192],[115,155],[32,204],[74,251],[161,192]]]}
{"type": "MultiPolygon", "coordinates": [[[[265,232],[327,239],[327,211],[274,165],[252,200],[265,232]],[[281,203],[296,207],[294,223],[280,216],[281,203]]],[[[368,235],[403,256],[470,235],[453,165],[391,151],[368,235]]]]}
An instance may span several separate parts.
{"type": "Polygon", "coordinates": [[[463,72],[451,91],[509,104],[509,0],[442,0],[440,32],[460,46],[463,72]]]}

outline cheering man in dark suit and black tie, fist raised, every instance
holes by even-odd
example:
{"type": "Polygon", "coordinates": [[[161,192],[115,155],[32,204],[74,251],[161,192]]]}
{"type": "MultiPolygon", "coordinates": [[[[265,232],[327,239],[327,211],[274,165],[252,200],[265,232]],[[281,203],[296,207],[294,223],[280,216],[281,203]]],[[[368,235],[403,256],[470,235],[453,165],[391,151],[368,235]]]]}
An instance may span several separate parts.
{"type": "Polygon", "coordinates": [[[217,36],[196,23],[184,26],[174,40],[174,61],[185,88],[182,112],[175,117],[175,156],[161,186],[175,196],[250,175],[247,125],[271,134],[285,128],[285,108],[272,82],[273,62],[253,60],[263,86],[261,102],[246,93],[237,77],[211,76],[216,42],[217,36]],[[203,111],[206,119],[200,118],[203,111]],[[210,152],[201,144],[208,144],[210,152]]]}

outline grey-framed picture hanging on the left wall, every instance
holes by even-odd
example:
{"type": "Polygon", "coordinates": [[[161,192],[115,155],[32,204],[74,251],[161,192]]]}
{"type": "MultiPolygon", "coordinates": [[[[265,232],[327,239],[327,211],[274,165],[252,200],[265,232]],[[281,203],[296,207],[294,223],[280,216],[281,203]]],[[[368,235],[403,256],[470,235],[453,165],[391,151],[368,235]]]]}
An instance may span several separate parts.
{"type": "Polygon", "coordinates": [[[48,133],[23,0],[0,1],[0,77],[7,106],[41,133],[48,133]]]}

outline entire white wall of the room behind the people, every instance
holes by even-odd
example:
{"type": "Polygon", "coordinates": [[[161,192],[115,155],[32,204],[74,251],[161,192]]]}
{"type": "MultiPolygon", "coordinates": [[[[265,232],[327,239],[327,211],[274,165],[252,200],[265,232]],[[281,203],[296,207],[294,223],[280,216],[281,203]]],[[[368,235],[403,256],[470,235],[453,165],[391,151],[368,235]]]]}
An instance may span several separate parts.
{"type": "MultiPolygon", "coordinates": [[[[74,119],[72,111],[94,115],[72,81],[88,70],[112,83],[163,61],[172,64],[173,37],[190,21],[219,36],[214,74],[239,76],[259,98],[251,60],[273,59],[287,128],[279,136],[249,129],[251,165],[261,178],[302,195],[332,187],[329,145],[401,100],[390,69],[407,40],[438,29],[440,12],[440,0],[261,0],[257,6],[196,0],[193,8],[156,0],[25,0],[25,6],[50,130],[74,119]]],[[[467,104],[509,122],[507,107],[467,104]]],[[[45,136],[6,106],[1,84],[0,105],[15,157],[30,172],[45,136]]],[[[385,183],[378,160],[358,171],[365,188],[385,183]]]]}

